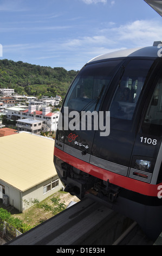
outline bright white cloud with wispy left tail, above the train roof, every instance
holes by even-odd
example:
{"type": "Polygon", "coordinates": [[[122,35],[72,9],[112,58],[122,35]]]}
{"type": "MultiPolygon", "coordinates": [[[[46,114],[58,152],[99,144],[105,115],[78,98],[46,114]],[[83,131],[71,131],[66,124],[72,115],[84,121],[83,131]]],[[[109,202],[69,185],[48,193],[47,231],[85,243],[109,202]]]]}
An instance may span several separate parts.
{"type": "Polygon", "coordinates": [[[93,47],[113,49],[147,46],[161,38],[161,24],[153,20],[137,20],[120,26],[109,22],[107,27],[98,31],[97,34],[69,39],[62,44],[62,47],[70,51],[75,51],[77,47],[87,48],[88,52],[93,47]],[[120,47],[118,47],[119,44],[120,47]]]}

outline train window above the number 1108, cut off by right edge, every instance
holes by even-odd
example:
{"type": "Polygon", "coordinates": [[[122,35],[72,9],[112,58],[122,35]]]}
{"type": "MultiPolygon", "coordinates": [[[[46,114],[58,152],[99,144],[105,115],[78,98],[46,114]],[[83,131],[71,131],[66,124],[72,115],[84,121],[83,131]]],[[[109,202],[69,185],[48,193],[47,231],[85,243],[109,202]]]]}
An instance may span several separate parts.
{"type": "Polygon", "coordinates": [[[162,78],[160,77],[148,105],[142,131],[162,136],[162,78]]]}

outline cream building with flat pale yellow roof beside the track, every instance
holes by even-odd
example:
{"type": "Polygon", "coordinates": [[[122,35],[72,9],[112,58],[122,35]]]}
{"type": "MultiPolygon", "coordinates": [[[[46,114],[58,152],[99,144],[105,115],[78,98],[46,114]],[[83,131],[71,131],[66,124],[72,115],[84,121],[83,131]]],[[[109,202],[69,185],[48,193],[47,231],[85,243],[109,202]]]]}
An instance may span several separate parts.
{"type": "Polygon", "coordinates": [[[62,188],[53,163],[54,140],[31,133],[1,137],[0,198],[20,212],[62,188]]]}

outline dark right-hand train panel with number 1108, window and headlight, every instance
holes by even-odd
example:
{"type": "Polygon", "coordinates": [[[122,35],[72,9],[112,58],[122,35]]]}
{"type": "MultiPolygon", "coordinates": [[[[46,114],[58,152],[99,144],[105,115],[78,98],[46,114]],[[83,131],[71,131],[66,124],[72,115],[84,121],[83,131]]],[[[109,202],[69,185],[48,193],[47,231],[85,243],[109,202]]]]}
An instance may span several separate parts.
{"type": "MultiPolygon", "coordinates": [[[[128,176],[132,179],[157,184],[162,181],[161,136],[162,136],[162,66],[154,74],[154,81],[148,83],[145,108],[135,139],[132,161],[128,176]]],[[[141,193],[144,191],[141,191],[141,193]]],[[[157,191],[153,196],[157,196],[157,191]]]]}

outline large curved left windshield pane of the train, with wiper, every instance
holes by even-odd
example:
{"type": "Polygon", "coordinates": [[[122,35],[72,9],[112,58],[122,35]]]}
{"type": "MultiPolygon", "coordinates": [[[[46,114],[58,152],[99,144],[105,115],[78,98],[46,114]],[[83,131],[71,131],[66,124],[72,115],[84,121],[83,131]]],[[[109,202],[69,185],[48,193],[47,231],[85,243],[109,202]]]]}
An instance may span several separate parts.
{"type": "Polygon", "coordinates": [[[64,107],[76,111],[96,109],[121,60],[85,66],[75,78],[64,107]]]}

